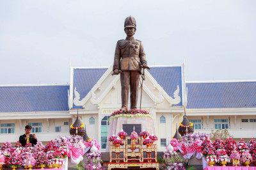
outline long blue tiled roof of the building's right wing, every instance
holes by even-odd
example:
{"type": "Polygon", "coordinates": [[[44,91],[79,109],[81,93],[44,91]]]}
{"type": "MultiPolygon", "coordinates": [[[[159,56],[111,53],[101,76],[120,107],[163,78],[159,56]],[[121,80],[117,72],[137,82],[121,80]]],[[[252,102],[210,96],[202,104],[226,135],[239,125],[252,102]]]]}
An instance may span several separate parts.
{"type": "Polygon", "coordinates": [[[256,82],[186,83],[188,109],[256,107],[256,82]]]}

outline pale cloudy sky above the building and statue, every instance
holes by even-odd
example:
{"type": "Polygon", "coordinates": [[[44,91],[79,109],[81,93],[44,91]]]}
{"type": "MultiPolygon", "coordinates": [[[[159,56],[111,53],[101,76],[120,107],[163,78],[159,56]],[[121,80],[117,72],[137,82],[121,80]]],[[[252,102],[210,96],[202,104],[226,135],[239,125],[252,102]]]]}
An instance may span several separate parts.
{"type": "Polygon", "coordinates": [[[136,19],[148,65],[186,81],[256,80],[256,1],[0,1],[0,85],[67,84],[70,65],[111,66],[136,19]]]}

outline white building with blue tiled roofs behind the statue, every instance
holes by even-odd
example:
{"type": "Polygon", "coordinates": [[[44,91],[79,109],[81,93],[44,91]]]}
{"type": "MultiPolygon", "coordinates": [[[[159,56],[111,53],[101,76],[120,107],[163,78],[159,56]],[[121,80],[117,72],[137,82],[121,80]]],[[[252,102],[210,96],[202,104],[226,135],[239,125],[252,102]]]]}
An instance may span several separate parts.
{"type": "MultiPolygon", "coordinates": [[[[72,67],[67,85],[0,86],[0,144],[18,141],[30,123],[44,144],[69,135],[78,110],[88,136],[104,151],[108,118],[121,107],[120,75],[111,73],[111,66],[72,67]]],[[[195,132],[228,128],[235,138],[256,137],[256,81],[186,82],[184,75],[184,65],[153,66],[145,72],[141,109],[154,117],[159,151],[182,121],[186,88],[186,114],[195,132]]]]}

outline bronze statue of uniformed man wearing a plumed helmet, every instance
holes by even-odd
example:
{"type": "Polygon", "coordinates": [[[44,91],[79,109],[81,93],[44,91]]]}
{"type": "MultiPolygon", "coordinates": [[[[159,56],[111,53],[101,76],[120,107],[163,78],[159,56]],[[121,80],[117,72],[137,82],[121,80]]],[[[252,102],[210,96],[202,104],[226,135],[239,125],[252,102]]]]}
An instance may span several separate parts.
{"type": "Polygon", "coordinates": [[[133,37],[136,31],[134,17],[129,16],[125,19],[124,31],[126,39],[116,43],[113,75],[120,73],[122,109],[127,109],[130,88],[131,109],[136,109],[141,68],[148,68],[147,60],[142,43],[133,37]]]}

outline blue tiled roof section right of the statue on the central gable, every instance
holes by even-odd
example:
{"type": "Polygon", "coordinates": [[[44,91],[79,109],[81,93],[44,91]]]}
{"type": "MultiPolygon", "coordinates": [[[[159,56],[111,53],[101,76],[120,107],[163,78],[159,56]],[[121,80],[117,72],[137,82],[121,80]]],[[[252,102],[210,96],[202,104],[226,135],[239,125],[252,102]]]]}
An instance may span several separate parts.
{"type": "MultiPolygon", "coordinates": [[[[179,96],[181,101],[177,105],[182,105],[182,77],[181,66],[154,66],[148,72],[156,79],[164,91],[173,98],[173,93],[179,85],[179,96]]],[[[175,105],[174,105],[175,106],[175,105]]]]}

